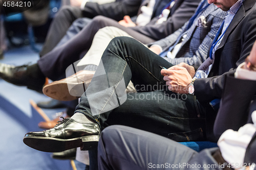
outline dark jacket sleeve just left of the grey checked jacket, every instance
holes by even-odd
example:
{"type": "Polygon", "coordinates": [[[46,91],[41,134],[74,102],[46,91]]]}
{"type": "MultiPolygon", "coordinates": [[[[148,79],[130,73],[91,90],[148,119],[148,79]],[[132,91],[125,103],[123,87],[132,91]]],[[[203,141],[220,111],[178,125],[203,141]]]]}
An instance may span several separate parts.
{"type": "Polygon", "coordinates": [[[172,9],[175,10],[168,19],[160,25],[155,25],[158,17],[155,17],[144,27],[131,28],[143,35],[146,35],[152,39],[160,40],[174,33],[176,30],[181,28],[186,21],[195,13],[200,0],[184,0],[183,3],[174,5],[172,9]]]}

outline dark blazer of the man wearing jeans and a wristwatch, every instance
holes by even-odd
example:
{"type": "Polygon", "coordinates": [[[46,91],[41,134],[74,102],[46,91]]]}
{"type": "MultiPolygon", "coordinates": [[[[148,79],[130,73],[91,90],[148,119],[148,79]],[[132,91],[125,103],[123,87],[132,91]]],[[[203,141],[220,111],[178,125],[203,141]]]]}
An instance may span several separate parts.
{"type": "Polygon", "coordinates": [[[221,98],[225,76],[244,62],[255,40],[256,4],[255,0],[245,0],[215,52],[215,61],[208,78],[194,82],[195,95],[201,104],[221,98]]]}

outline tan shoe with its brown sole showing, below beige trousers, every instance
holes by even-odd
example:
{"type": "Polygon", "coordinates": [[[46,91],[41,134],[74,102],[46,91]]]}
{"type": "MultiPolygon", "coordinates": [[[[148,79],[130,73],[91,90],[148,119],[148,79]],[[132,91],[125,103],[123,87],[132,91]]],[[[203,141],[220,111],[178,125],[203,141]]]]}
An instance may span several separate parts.
{"type": "Polygon", "coordinates": [[[87,87],[91,83],[95,71],[81,70],[76,74],[52,82],[46,85],[42,92],[50,98],[59,101],[72,101],[80,96],[86,91],[87,87]]]}

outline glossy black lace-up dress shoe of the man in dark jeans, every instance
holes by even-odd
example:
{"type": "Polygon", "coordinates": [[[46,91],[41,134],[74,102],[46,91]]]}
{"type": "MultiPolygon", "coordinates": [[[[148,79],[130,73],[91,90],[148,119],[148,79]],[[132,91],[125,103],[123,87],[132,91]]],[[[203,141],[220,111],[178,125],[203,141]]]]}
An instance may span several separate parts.
{"type": "Polygon", "coordinates": [[[27,133],[23,142],[29,147],[43,152],[62,152],[78,147],[86,151],[98,147],[99,134],[98,124],[81,124],[68,117],[63,118],[52,129],[27,133]]]}

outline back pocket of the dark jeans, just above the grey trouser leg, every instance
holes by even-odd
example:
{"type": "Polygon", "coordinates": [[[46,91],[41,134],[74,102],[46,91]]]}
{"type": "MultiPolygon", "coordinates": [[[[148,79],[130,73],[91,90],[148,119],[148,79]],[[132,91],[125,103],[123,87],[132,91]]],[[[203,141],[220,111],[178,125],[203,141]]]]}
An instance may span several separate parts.
{"type": "Polygon", "coordinates": [[[167,137],[177,142],[205,140],[201,128],[188,132],[169,133],[167,137]]]}

